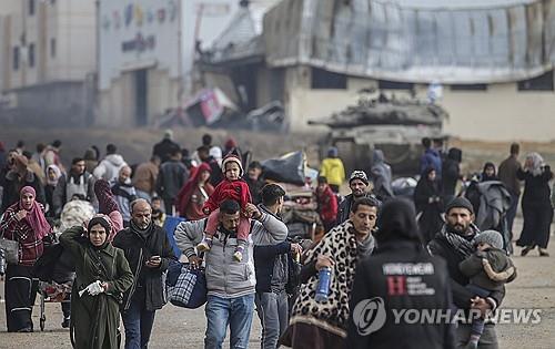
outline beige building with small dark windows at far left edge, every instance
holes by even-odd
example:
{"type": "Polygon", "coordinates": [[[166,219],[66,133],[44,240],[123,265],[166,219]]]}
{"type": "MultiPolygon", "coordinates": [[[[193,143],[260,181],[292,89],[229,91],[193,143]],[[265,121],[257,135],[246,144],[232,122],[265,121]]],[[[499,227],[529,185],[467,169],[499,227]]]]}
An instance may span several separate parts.
{"type": "Polygon", "coordinates": [[[94,0],[4,0],[0,38],[3,122],[92,122],[94,0]]]}

